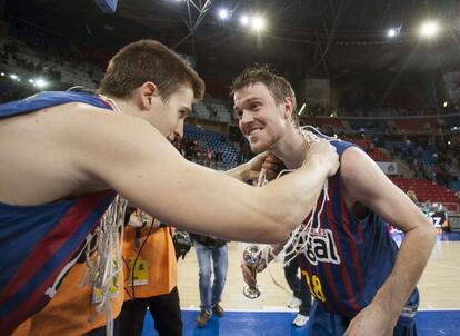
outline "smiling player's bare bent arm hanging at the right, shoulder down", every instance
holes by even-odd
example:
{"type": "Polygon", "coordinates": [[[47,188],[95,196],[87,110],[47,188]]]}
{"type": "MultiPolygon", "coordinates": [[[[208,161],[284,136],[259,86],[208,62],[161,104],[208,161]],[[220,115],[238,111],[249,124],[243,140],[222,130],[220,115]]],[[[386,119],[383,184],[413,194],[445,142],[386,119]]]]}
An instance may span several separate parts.
{"type": "Polygon", "coordinates": [[[364,205],[406,234],[393,270],[372,303],[353,318],[346,335],[392,335],[398,317],[428,263],[436,230],[406,194],[361,150],[347,149],[340,171],[351,204],[364,205]]]}

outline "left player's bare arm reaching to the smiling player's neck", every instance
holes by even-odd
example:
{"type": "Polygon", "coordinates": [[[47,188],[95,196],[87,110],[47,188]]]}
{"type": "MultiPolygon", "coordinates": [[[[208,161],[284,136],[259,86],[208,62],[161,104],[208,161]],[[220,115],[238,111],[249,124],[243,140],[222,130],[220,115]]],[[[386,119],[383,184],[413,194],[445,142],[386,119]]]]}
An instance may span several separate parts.
{"type": "Polygon", "coordinates": [[[66,141],[80,174],[107,184],[161,221],[232,240],[286,239],[338,168],[331,146],[319,144],[296,172],[256,188],[184,160],[146,121],[91,110],[72,123],[66,141]]]}

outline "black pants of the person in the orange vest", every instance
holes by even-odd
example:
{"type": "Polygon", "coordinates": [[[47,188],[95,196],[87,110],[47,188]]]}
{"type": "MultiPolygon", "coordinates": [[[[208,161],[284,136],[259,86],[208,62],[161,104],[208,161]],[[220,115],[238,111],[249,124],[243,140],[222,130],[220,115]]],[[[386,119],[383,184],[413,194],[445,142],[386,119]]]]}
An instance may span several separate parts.
{"type": "Polygon", "coordinates": [[[182,336],[178,287],[169,294],[124,302],[120,313],[120,336],[142,335],[147,307],[160,336],[182,336]]]}

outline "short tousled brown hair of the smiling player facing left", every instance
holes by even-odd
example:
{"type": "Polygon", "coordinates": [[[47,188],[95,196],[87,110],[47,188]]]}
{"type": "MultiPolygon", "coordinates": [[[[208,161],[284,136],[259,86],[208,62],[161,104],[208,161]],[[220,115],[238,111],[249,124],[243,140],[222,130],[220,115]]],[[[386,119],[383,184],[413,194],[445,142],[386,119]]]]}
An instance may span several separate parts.
{"type": "Polygon", "coordinates": [[[292,86],[284,77],[279,76],[271,70],[269,65],[254,65],[246,68],[240,75],[237,76],[237,78],[233,79],[233,82],[230,86],[230,95],[233,96],[238,90],[256,83],[264,85],[277,105],[283,103],[287,97],[292,98],[292,119],[296,125],[298,125],[298,116],[296,113],[296,93],[292,86]]]}

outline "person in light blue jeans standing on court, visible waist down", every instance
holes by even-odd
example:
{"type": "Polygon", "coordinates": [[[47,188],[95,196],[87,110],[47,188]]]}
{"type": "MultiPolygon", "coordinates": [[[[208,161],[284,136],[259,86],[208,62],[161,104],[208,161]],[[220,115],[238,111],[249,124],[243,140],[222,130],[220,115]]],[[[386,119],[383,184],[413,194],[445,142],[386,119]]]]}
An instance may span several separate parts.
{"type": "Polygon", "coordinates": [[[216,237],[191,235],[197,251],[199,267],[200,289],[200,315],[197,325],[204,327],[212,314],[223,316],[223,308],[220,305],[228,270],[228,247],[227,241],[216,237]],[[212,266],[211,266],[212,260],[212,266]],[[214,280],[211,286],[212,269],[214,280]]]}

